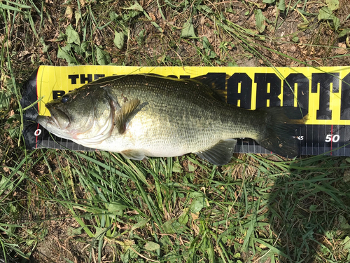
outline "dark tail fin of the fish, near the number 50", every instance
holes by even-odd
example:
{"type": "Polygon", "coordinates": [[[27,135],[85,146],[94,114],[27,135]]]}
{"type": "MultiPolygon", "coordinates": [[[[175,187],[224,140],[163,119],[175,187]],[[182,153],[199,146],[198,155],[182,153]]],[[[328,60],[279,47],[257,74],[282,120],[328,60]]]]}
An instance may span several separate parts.
{"type": "Polygon", "coordinates": [[[297,130],[304,125],[307,116],[303,116],[294,107],[267,107],[258,109],[264,112],[267,126],[265,132],[256,140],[262,147],[281,156],[295,157],[300,154],[300,141],[297,130]]]}

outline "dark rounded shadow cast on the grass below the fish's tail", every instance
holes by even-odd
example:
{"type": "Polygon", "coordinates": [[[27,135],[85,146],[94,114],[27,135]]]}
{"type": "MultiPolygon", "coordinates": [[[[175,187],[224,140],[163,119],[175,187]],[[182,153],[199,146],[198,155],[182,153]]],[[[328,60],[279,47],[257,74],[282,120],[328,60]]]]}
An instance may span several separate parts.
{"type": "Polygon", "coordinates": [[[269,197],[281,262],[350,261],[350,170],[344,158],[323,156],[290,166],[269,197]]]}

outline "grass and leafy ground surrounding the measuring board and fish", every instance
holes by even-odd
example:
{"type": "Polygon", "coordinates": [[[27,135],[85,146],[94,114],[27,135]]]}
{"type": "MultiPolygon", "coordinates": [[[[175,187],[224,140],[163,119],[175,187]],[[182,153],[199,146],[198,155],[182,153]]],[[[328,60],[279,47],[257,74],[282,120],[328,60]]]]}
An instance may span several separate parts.
{"type": "Polygon", "coordinates": [[[20,83],[38,65],[349,65],[339,45],[350,31],[345,0],[319,21],[325,1],[271,2],[0,4],[0,254],[18,262],[349,262],[346,157],[236,154],[216,167],[192,154],[129,161],[22,145],[20,83]]]}

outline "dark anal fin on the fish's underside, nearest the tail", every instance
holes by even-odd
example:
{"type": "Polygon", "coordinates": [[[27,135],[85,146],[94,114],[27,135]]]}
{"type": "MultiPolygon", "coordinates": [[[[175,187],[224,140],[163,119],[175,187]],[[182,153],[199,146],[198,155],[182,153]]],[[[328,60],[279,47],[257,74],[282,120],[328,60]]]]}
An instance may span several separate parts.
{"type": "Polygon", "coordinates": [[[231,160],[236,143],[237,140],[235,139],[221,140],[213,147],[196,152],[195,154],[202,159],[214,163],[216,166],[223,166],[231,160]]]}

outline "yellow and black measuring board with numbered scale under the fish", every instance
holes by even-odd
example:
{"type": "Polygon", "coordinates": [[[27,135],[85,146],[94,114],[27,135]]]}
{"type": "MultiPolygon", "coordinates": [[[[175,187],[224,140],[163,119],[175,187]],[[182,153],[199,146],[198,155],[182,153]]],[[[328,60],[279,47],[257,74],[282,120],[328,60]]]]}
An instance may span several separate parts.
{"type": "MultiPolygon", "coordinates": [[[[300,154],[350,156],[350,67],[41,66],[25,85],[21,100],[22,107],[28,107],[41,99],[24,115],[23,135],[27,147],[94,150],[48,133],[36,123],[36,116],[49,116],[45,103],[70,90],[104,76],[125,74],[223,78],[225,81],[218,81],[223,86],[214,88],[225,95],[230,104],[245,109],[298,107],[303,114],[308,114],[306,125],[296,130],[300,154]]],[[[235,151],[270,153],[246,138],[238,138],[235,151]]]]}

